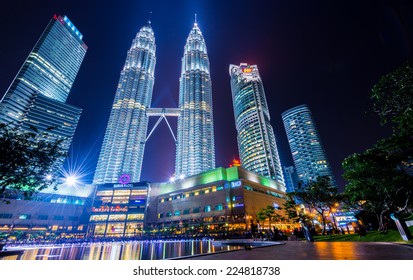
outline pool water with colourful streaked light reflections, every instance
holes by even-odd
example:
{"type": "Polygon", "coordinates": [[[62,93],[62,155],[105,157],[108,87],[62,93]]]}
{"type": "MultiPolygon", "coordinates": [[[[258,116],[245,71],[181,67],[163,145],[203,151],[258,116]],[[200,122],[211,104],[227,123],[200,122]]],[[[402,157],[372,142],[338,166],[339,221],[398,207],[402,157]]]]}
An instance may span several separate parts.
{"type": "Polygon", "coordinates": [[[22,260],[161,260],[240,249],[212,240],[133,241],[27,246],[22,260]]]}

